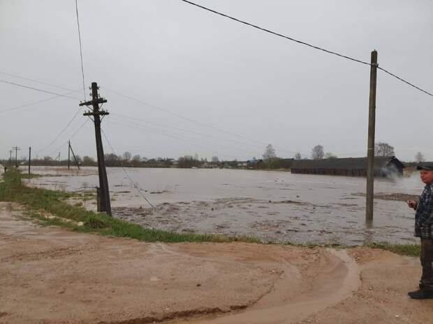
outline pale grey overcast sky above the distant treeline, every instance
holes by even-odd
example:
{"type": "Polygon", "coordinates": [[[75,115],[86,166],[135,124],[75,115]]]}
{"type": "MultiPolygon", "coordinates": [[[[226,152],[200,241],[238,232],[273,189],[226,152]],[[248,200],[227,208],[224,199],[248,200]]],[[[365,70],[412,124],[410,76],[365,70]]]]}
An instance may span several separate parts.
{"type": "MultiPolygon", "coordinates": [[[[433,91],[431,0],[196,2],[363,61],[377,49],[381,67],[433,91]]],[[[108,99],[103,129],[117,154],[244,160],[271,143],[281,157],[309,155],[316,144],[339,157],[366,155],[368,65],[179,0],[78,0],[78,8],[85,84],[98,82],[108,99]]],[[[0,0],[0,71],[82,88],[75,1],[0,0]]],[[[433,160],[433,98],[380,71],[377,90],[376,141],[402,160],[418,151],[433,160]]],[[[76,100],[1,112],[53,95],[0,83],[0,156],[16,145],[20,155],[32,146],[39,157],[66,157],[74,133],[76,153],[96,156],[93,125],[82,126],[82,114],[48,146],[79,109],[82,91],[70,95],[76,100]]]]}

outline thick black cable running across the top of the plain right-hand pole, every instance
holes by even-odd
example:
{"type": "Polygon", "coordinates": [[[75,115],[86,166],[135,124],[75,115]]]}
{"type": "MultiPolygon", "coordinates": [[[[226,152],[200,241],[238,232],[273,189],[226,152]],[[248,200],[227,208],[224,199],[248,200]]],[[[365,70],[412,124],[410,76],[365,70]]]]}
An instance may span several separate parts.
{"type": "MultiPolygon", "coordinates": [[[[305,42],[303,42],[302,40],[297,40],[297,39],[295,39],[295,38],[292,38],[292,37],[289,37],[289,36],[283,35],[283,34],[281,34],[281,33],[277,33],[277,32],[275,32],[275,31],[271,31],[270,29],[265,29],[265,28],[260,27],[260,26],[258,26],[258,25],[256,25],[256,24],[251,24],[251,23],[249,23],[249,22],[245,22],[244,20],[240,20],[240,19],[237,19],[237,18],[235,18],[235,17],[232,17],[232,16],[229,16],[229,15],[226,15],[226,14],[224,14],[224,13],[220,13],[220,12],[217,11],[217,10],[213,10],[213,9],[207,8],[207,7],[205,7],[205,6],[201,6],[201,5],[199,5],[198,3],[194,3],[194,2],[192,2],[192,1],[188,1],[188,0],[180,0],[180,1],[182,1],[182,2],[184,2],[184,3],[189,3],[189,4],[192,5],[192,6],[196,6],[196,7],[200,8],[200,9],[206,10],[206,11],[208,11],[208,12],[210,12],[210,13],[214,13],[214,14],[216,14],[216,15],[220,15],[220,16],[222,16],[222,17],[226,17],[226,18],[228,18],[228,19],[230,19],[230,20],[234,20],[235,22],[240,22],[241,24],[245,24],[245,25],[247,25],[247,26],[251,26],[251,27],[253,27],[253,28],[255,28],[255,29],[259,29],[260,31],[265,31],[266,33],[271,33],[271,34],[274,35],[274,36],[278,36],[278,37],[281,37],[281,38],[286,38],[287,40],[291,40],[291,41],[293,41],[293,42],[295,42],[295,43],[299,43],[299,44],[302,44],[302,45],[306,45],[306,46],[308,46],[308,47],[311,47],[311,48],[314,48],[314,49],[318,49],[319,51],[326,52],[326,53],[328,53],[328,54],[332,54],[332,55],[336,55],[336,56],[342,57],[343,59],[348,59],[348,60],[351,60],[351,61],[355,61],[355,62],[358,62],[358,63],[362,63],[362,64],[364,64],[364,65],[370,65],[370,66],[372,65],[371,63],[368,63],[368,62],[365,62],[365,61],[361,61],[360,59],[355,59],[355,58],[353,58],[353,57],[351,57],[351,56],[347,56],[347,55],[344,55],[344,54],[339,54],[338,52],[333,52],[333,51],[330,51],[329,49],[324,49],[323,47],[318,47],[318,46],[316,46],[316,45],[312,45],[312,44],[309,44],[309,43],[305,43],[305,42]]],[[[430,93],[430,92],[428,92],[428,91],[425,91],[425,90],[423,90],[422,88],[420,88],[420,87],[418,87],[418,86],[415,86],[415,85],[412,84],[411,82],[406,81],[406,80],[403,79],[402,77],[398,77],[397,75],[395,75],[395,74],[389,72],[388,70],[386,70],[386,69],[384,69],[384,68],[379,68],[379,65],[376,65],[376,66],[377,66],[377,68],[378,68],[379,70],[382,70],[383,72],[386,72],[388,75],[390,75],[390,76],[392,76],[392,77],[395,77],[395,78],[398,79],[399,81],[404,82],[405,84],[408,84],[409,86],[412,86],[413,88],[416,88],[416,89],[418,89],[419,91],[422,91],[423,93],[426,93],[427,95],[430,95],[430,96],[433,97],[433,94],[432,94],[432,93],[430,93]]]]}

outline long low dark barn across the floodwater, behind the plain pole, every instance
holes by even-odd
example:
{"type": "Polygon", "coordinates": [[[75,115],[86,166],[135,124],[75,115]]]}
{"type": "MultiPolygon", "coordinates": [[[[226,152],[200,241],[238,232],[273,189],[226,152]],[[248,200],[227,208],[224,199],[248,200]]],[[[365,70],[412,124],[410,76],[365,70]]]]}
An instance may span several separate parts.
{"type": "MultiPolygon", "coordinates": [[[[374,176],[402,176],[403,169],[404,164],[395,156],[374,157],[374,176]]],[[[333,176],[367,176],[367,157],[295,160],[291,172],[333,176]]]]}

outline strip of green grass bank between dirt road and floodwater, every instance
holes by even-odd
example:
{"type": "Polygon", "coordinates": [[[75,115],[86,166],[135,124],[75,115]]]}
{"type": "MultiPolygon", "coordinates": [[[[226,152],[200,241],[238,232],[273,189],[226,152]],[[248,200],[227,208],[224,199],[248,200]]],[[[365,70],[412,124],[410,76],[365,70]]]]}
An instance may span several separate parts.
{"type": "MultiPolygon", "coordinates": [[[[39,219],[43,224],[68,227],[73,231],[99,233],[101,235],[134,238],[146,242],[256,242],[260,239],[240,236],[231,238],[223,235],[202,235],[192,233],[173,233],[156,229],[146,229],[138,224],[124,222],[108,217],[102,213],[94,213],[78,205],[66,202],[73,194],[40,188],[31,188],[22,184],[22,178],[32,178],[15,169],[3,174],[0,183],[0,201],[14,201],[27,206],[31,217],[39,219]],[[54,217],[47,217],[53,215],[54,217]]],[[[291,244],[291,243],[286,243],[291,244]]],[[[304,245],[314,247],[316,245],[304,245]]],[[[366,245],[374,249],[386,249],[397,254],[419,256],[419,245],[391,245],[389,243],[371,243],[366,245]]]]}

